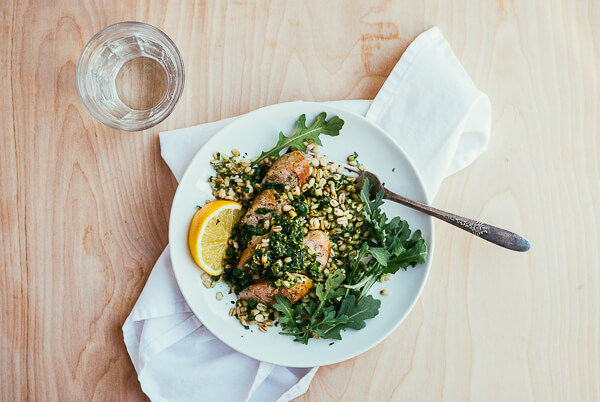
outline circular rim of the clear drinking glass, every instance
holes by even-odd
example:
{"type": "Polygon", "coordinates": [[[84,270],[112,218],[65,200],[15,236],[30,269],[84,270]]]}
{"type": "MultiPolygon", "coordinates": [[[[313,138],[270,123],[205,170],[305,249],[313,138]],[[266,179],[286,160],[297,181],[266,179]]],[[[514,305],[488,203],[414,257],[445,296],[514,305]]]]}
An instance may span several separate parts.
{"type": "MultiPolygon", "coordinates": [[[[142,56],[142,57],[147,57],[147,56],[142,56]]],[[[179,99],[181,98],[181,95],[183,94],[183,89],[185,86],[184,85],[185,84],[185,67],[184,67],[184,63],[183,63],[183,58],[181,56],[181,53],[179,52],[179,48],[177,47],[175,42],[173,42],[173,40],[162,30],[160,30],[159,28],[157,28],[153,25],[147,24],[145,22],[121,21],[121,22],[117,22],[115,24],[111,24],[111,25],[108,25],[108,26],[102,28],[100,31],[96,32],[90,38],[90,40],[83,47],[83,50],[81,51],[81,54],[77,61],[77,69],[75,72],[75,77],[76,77],[75,81],[77,84],[77,93],[79,94],[79,98],[81,99],[81,102],[83,103],[83,105],[85,106],[87,111],[92,115],[92,117],[95,120],[104,124],[105,126],[113,128],[115,130],[133,132],[133,131],[143,131],[143,130],[147,130],[151,127],[154,127],[157,124],[160,124],[168,116],[171,115],[171,113],[173,112],[173,109],[175,109],[175,106],[177,105],[179,99]],[[101,43],[100,42],[101,38],[103,38],[107,34],[110,34],[112,31],[117,31],[118,29],[127,28],[127,27],[135,27],[136,29],[140,29],[140,28],[147,29],[147,30],[153,32],[154,34],[158,35],[162,40],[164,40],[166,42],[168,47],[171,47],[170,50],[172,50],[172,52],[169,52],[169,53],[172,53],[171,56],[175,59],[174,60],[175,64],[181,68],[180,68],[180,71],[178,71],[178,73],[180,72],[180,74],[177,75],[178,79],[176,80],[176,88],[173,92],[173,97],[172,97],[172,99],[170,99],[168,101],[165,108],[160,110],[160,112],[156,114],[156,116],[158,116],[158,117],[154,120],[149,120],[146,122],[140,121],[137,124],[134,123],[134,124],[130,124],[129,126],[124,127],[112,120],[107,119],[105,116],[103,116],[102,114],[99,114],[98,111],[94,109],[93,105],[91,104],[91,103],[93,103],[93,101],[90,100],[89,92],[85,88],[85,82],[84,82],[85,76],[84,76],[83,68],[84,68],[84,66],[87,68],[87,63],[89,62],[89,56],[92,54],[92,50],[95,50],[95,48],[101,43]]],[[[132,110],[134,110],[134,109],[132,109],[132,110]]]]}

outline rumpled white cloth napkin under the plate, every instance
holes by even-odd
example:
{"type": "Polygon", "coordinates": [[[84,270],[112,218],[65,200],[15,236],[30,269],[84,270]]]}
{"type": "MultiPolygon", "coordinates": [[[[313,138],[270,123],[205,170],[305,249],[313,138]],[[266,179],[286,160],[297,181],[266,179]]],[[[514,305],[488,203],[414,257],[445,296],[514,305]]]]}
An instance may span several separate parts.
{"type": "MultiPolygon", "coordinates": [[[[391,134],[422,175],[430,199],[442,179],[487,146],[490,104],[437,28],[419,35],[371,101],[331,102],[391,134]]],[[[177,180],[211,135],[233,119],[160,133],[177,180]]],[[[306,392],[317,367],[259,362],[216,339],[191,312],[162,253],[123,325],[143,391],[154,401],[288,401],[306,392]]]]}

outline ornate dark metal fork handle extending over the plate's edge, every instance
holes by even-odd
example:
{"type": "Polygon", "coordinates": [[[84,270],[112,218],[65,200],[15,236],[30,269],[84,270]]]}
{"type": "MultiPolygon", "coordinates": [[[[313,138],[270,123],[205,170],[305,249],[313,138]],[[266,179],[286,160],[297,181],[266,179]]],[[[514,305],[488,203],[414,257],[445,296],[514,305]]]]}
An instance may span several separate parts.
{"type": "Polygon", "coordinates": [[[429,205],[402,197],[401,195],[398,195],[388,189],[385,189],[385,195],[383,198],[441,219],[444,222],[448,222],[449,224],[456,226],[457,228],[466,230],[477,237],[481,237],[482,239],[507,249],[514,251],[527,251],[531,248],[529,241],[516,233],[430,207],[429,205]]]}

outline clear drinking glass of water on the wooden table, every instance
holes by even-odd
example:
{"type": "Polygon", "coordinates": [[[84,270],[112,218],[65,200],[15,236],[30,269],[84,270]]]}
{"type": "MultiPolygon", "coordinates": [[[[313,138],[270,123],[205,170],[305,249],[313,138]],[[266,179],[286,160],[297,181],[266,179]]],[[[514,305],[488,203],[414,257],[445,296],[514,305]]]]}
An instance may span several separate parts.
{"type": "Polygon", "coordinates": [[[91,115],[117,130],[163,121],[183,92],[183,60],[159,29],[121,22],[98,32],[77,64],[77,90],[91,115]]]}

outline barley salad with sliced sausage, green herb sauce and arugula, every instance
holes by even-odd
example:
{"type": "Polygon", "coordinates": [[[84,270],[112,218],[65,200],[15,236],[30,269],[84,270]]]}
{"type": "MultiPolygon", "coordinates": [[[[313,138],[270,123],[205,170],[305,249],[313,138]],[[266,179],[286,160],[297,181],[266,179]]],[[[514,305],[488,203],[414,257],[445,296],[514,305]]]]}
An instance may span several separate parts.
{"type": "MultiPolygon", "coordinates": [[[[247,329],[271,327],[301,343],[341,339],[379,312],[369,294],[400,269],[424,263],[427,245],[399,217],[380,207],[383,193],[357,185],[347,167],[365,167],[355,152],[329,160],[320,135],[343,135],[343,120],[325,113],[258,158],[233,149],[210,162],[213,196],[241,206],[222,256],[223,273],[203,274],[207,287],[224,281],[237,301],[229,310],[247,329]]],[[[385,296],[387,290],[383,289],[385,296]]],[[[217,299],[222,294],[217,293],[217,299]]]]}

